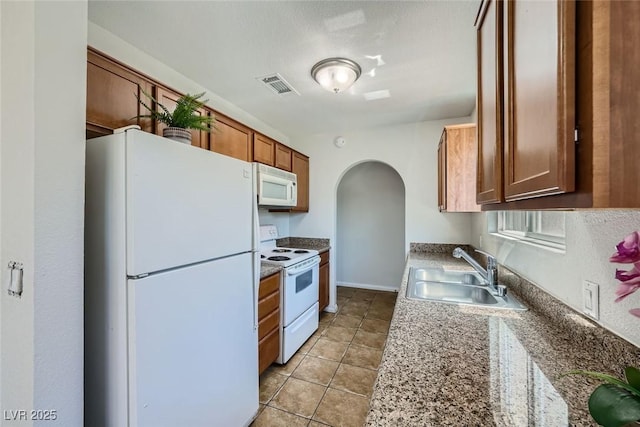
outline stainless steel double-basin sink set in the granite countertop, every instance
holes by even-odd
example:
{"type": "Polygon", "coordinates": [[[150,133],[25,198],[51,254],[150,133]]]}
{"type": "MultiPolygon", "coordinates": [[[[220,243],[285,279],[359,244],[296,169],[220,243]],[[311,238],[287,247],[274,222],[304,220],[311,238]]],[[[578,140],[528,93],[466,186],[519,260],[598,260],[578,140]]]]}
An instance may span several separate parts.
{"type": "Polygon", "coordinates": [[[513,296],[491,293],[479,274],[470,271],[447,271],[441,268],[409,269],[407,298],[446,304],[527,310],[513,296]]]}

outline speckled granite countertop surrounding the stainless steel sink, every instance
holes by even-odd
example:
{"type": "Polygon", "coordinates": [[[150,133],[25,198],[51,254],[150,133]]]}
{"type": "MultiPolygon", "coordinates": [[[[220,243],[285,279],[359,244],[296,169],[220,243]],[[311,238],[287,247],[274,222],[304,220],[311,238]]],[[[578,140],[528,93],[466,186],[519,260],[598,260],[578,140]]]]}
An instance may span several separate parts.
{"type": "Polygon", "coordinates": [[[595,426],[587,401],[599,382],[560,374],[620,376],[640,349],[501,266],[529,311],[407,299],[410,267],[471,269],[454,245],[415,252],[427,246],[412,244],[366,425],[595,426]]]}

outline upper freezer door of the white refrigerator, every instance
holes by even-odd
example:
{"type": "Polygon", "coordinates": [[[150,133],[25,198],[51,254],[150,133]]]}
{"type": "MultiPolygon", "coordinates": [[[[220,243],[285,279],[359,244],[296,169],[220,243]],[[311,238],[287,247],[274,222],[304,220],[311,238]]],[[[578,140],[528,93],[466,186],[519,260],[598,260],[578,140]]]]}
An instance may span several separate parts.
{"type": "Polygon", "coordinates": [[[250,163],[127,131],[127,275],[252,250],[250,163]]]}

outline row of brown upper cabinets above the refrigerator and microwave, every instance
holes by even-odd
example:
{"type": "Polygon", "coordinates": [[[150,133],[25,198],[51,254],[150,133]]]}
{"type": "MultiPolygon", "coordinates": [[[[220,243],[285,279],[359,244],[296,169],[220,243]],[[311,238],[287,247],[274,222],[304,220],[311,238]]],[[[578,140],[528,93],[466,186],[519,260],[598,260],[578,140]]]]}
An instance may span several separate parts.
{"type": "MultiPolygon", "coordinates": [[[[138,118],[148,111],[138,103],[145,100],[142,91],[152,94],[169,110],[175,108],[181,94],[167,88],[125,64],[87,48],[87,139],[113,133],[114,129],[138,124],[146,132],[162,135],[164,125],[138,118]]],[[[147,101],[145,101],[147,102],[147,101]]],[[[157,106],[147,105],[151,108],[157,106]]],[[[215,129],[208,132],[193,130],[192,145],[247,162],[261,162],[298,176],[298,205],[291,210],[309,210],[309,158],[294,152],[286,145],[255,132],[248,126],[203,107],[199,114],[213,115],[215,129]],[[255,135],[255,136],[254,136],[255,135]]]]}

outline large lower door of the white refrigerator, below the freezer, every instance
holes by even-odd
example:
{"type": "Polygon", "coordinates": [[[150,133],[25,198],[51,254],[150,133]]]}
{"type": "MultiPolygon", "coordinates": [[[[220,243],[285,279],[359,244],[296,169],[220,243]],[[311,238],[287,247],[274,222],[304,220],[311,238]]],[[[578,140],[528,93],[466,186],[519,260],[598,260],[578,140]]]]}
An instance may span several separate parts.
{"type": "Polygon", "coordinates": [[[130,426],[243,426],[258,410],[251,254],[128,281],[130,426]]]}

